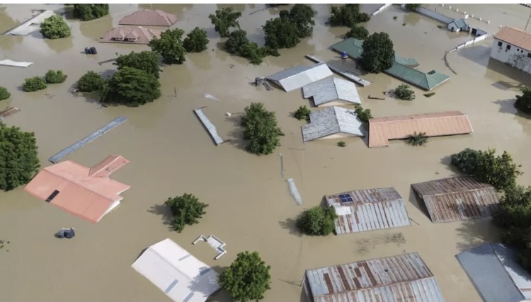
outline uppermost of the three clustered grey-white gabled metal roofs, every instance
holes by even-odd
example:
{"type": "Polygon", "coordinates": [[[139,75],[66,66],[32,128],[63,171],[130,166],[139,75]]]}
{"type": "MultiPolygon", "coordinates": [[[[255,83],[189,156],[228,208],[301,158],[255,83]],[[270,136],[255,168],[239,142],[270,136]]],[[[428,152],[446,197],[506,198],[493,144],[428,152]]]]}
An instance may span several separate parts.
{"type": "Polygon", "coordinates": [[[275,81],[278,85],[282,86],[286,92],[290,92],[328,76],[332,76],[332,71],[326,66],[326,64],[320,63],[310,66],[295,66],[276,74],[266,76],[265,79],[275,81]]]}

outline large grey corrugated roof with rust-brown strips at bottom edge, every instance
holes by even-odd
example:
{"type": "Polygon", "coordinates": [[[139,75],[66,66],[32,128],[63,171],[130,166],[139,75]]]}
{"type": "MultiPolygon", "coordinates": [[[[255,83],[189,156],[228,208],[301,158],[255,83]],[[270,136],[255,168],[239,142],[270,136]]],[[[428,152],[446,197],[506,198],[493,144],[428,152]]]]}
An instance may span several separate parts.
{"type": "Polygon", "coordinates": [[[444,302],[430,269],[416,253],[306,271],[314,302],[444,302]]]}

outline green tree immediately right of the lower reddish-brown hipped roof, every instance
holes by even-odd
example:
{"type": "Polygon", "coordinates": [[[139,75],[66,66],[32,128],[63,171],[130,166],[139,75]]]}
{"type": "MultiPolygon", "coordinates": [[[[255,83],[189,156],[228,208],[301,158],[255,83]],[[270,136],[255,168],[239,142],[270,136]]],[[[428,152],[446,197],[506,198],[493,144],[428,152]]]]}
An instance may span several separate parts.
{"type": "Polygon", "coordinates": [[[165,30],[161,33],[161,37],[154,37],[149,41],[149,47],[152,47],[154,52],[159,52],[162,56],[162,61],[166,64],[183,64],[186,50],[183,47],[184,30],[179,28],[173,30],[165,30]]]}

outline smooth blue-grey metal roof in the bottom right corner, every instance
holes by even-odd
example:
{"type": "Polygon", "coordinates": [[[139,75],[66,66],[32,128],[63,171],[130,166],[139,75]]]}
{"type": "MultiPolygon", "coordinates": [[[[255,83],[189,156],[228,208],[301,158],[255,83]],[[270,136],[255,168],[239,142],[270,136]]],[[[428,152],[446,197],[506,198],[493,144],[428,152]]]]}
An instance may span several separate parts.
{"type": "Polygon", "coordinates": [[[484,302],[531,298],[531,275],[516,263],[516,251],[507,245],[485,243],[456,257],[484,302]]]}

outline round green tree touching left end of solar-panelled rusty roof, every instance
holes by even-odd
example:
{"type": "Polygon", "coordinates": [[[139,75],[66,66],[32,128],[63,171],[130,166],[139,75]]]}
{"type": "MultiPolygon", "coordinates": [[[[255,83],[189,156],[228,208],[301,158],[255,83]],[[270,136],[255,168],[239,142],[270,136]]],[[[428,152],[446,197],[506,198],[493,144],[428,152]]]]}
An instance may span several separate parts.
{"type": "Polygon", "coordinates": [[[309,236],[327,236],[334,230],[334,220],[337,218],[333,207],[313,207],[303,211],[295,224],[301,233],[309,236]]]}

